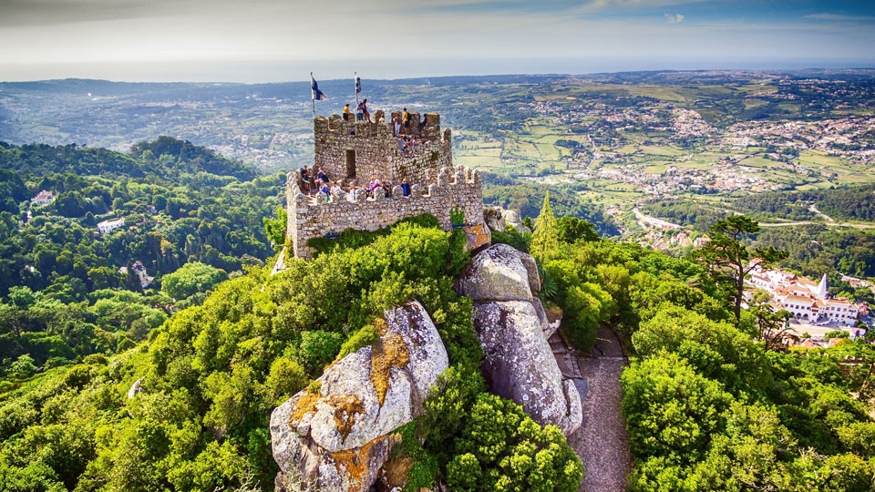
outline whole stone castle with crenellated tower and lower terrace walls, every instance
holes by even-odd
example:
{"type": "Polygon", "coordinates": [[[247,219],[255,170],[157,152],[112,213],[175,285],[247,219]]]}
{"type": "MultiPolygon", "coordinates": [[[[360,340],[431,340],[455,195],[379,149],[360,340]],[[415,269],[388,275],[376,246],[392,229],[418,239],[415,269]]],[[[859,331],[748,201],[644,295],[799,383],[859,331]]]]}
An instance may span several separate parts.
{"type": "MultiPolygon", "coordinates": [[[[390,121],[396,116],[400,113],[393,112],[390,121]]],[[[315,118],[311,176],[322,168],[332,182],[342,182],[344,190],[353,184],[366,186],[376,178],[392,187],[391,196],[376,192],[366,198],[365,190],[359,188],[328,201],[323,193],[303,191],[300,169],[289,172],[288,250],[284,254],[309,260],[314,252],[307,246],[311,239],[330,239],[347,229],[376,231],[423,213],[437,217],[445,231],[464,227],[472,250],[488,244],[479,171],[453,167],[451,132],[441,132],[438,114],[427,113],[420,122],[419,114],[409,113],[407,135],[417,138],[420,145],[407,150],[400,148],[395,128],[386,122],[383,111],[376,111],[374,117],[374,123],[346,121],[339,115],[315,118]],[[408,196],[400,186],[404,180],[410,189],[408,196]],[[453,209],[465,212],[464,226],[451,223],[453,209]]]]}

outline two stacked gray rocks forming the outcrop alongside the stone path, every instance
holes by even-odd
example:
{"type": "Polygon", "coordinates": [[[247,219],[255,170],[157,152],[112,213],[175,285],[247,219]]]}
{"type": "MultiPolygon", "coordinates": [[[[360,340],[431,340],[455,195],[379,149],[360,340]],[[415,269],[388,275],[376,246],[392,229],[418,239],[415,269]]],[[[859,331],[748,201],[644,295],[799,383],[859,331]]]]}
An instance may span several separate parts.
{"type": "Polygon", "coordinates": [[[474,301],[474,329],[492,393],[522,405],[541,425],[566,436],[582,422],[581,395],[562,381],[545,333],[555,331],[537,297],[540,275],[530,255],[496,244],[475,256],[456,279],[474,301]]]}

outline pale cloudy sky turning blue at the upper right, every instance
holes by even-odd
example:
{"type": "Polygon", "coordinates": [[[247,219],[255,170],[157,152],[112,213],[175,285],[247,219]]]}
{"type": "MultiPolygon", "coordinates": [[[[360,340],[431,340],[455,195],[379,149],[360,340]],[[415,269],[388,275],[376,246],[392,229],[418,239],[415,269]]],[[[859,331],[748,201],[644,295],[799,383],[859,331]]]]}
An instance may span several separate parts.
{"type": "Polygon", "coordinates": [[[875,0],[0,0],[0,80],[875,67],[875,0]]]}

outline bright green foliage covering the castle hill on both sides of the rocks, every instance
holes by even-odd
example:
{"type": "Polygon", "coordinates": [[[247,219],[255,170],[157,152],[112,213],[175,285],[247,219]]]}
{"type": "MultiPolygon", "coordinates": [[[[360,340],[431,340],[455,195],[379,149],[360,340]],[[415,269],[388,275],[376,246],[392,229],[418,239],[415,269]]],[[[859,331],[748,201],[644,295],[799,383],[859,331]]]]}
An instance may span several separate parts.
{"type": "MultiPolygon", "coordinates": [[[[438,326],[450,368],[443,391],[401,429],[398,452],[413,462],[407,488],[576,490],[584,470],[558,429],[485,393],[471,302],[451,288],[468,260],[463,236],[437,225],[424,216],[355,236],[351,246],[341,240],[273,277],[253,267],[120,354],[8,376],[0,483],[270,489],[273,407],[325,364],[372,343],[386,308],[416,298],[438,326]],[[143,392],[129,399],[137,380],[143,392]]],[[[769,351],[757,340],[757,318],[736,320],[703,265],[601,240],[575,218],[539,217],[537,225],[532,237],[495,239],[539,259],[543,300],[565,312],[561,330],[587,349],[607,323],[636,355],[623,374],[638,460],[633,490],[871,489],[872,345],[841,346],[864,361],[851,367],[829,354],[769,351]]]]}

